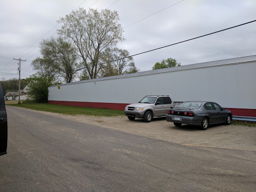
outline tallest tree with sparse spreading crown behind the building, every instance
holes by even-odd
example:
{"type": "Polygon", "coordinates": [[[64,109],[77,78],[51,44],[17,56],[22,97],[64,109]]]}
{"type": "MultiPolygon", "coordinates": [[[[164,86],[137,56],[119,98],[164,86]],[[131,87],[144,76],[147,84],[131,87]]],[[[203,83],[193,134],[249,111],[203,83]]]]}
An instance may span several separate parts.
{"type": "Polygon", "coordinates": [[[83,8],[73,10],[58,23],[62,23],[58,34],[71,39],[82,58],[90,78],[96,78],[103,67],[99,64],[100,52],[124,40],[116,11],[83,8]]]}

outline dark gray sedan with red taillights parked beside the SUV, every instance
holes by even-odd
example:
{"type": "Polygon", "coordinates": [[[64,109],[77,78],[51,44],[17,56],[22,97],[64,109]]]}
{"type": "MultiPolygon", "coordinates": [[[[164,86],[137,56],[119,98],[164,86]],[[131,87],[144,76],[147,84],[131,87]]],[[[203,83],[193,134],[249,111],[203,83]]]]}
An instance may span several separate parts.
{"type": "Polygon", "coordinates": [[[232,113],[222,108],[219,104],[210,101],[186,101],[171,107],[166,114],[166,120],[174,125],[184,124],[199,125],[207,129],[208,125],[216,123],[230,124],[232,113]]]}

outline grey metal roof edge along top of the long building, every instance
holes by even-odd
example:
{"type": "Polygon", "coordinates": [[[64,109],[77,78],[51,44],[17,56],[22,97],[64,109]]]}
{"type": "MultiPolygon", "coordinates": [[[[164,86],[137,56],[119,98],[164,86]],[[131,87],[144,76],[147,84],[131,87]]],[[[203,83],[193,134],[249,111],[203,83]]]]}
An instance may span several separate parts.
{"type": "MultiPolygon", "coordinates": [[[[156,70],[146,70],[146,71],[141,71],[141,72],[121,74],[121,75],[115,75],[115,76],[107,76],[107,77],[101,77],[101,78],[93,78],[93,79],[64,83],[61,85],[75,84],[75,83],[82,83],[82,82],[95,82],[95,81],[100,81],[100,80],[108,80],[108,79],[116,79],[116,78],[128,78],[128,77],[134,77],[134,76],[144,76],[144,75],[157,74],[157,73],[188,70],[188,69],[193,69],[193,68],[212,67],[212,66],[219,66],[219,65],[237,64],[237,63],[251,62],[251,61],[256,61],[256,55],[228,58],[228,59],[222,59],[222,60],[214,60],[214,61],[194,63],[194,64],[187,64],[187,65],[181,65],[181,66],[175,66],[175,67],[161,68],[161,69],[156,69],[156,70]]],[[[57,85],[54,85],[54,86],[57,86],[57,85]]]]}

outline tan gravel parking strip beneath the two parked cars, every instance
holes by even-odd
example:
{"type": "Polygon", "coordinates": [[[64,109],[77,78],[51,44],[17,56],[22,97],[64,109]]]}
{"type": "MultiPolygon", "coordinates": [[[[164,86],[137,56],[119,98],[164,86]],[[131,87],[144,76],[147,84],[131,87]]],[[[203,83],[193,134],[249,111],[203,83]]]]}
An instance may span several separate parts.
{"type": "Polygon", "coordinates": [[[197,126],[183,124],[176,127],[172,122],[167,122],[165,117],[153,118],[151,122],[146,123],[137,118],[133,121],[128,120],[126,116],[73,116],[45,111],[35,112],[179,144],[256,150],[255,127],[220,124],[209,126],[207,130],[200,130],[197,126]]]}

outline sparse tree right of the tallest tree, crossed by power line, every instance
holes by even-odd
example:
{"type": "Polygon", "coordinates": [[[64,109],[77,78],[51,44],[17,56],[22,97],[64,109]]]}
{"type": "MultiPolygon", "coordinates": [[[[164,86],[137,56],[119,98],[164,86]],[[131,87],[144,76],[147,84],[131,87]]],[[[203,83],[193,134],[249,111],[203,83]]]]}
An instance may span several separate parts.
{"type": "Polygon", "coordinates": [[[101,69],[101,76],[138,72],[133,58],[128,56],[129,52],[125,49],[106,48],[100,56],[102,62],[106,63],[101,69]]]}

